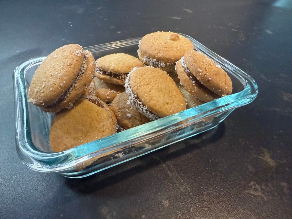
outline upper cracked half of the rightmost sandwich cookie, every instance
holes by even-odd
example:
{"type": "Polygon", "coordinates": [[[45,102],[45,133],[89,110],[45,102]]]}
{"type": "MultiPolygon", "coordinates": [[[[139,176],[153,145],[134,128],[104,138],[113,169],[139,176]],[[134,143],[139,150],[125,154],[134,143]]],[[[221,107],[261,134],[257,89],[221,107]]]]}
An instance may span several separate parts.
{"type": "Polygon", "coordinates": [[[190,72],[207,88],[219,96],[232,93],[232,82],[227,73],[201,52],[190,50],[184,55],[190,72]]]}

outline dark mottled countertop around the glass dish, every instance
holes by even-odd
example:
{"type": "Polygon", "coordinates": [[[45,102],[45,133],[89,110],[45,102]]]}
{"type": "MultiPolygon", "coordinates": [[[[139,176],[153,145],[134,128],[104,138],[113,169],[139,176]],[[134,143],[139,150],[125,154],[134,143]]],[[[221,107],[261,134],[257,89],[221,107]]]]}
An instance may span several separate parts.
{"type": "Polygon", "coordinates": [[[291,10],[289,0],[0,1],[0,218],[291,218],[291,10]],[[21,163],[17,65],[64,44],[158,30],[188,34],[243,69],[256,100],[212,131],[88,178],[21,163]]]}

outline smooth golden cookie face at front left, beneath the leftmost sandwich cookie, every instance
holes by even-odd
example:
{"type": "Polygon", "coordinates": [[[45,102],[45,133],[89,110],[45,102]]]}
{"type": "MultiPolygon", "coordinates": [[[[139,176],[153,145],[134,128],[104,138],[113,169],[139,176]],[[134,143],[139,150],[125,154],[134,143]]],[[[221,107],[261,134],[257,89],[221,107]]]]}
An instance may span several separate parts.
{"type": "Polygon", "coordinates": [[[50,145],[53,152],[60,152],[115,132],[107,109],[78,98],[72,109],[55,114],[50,129],[50,145]]]}

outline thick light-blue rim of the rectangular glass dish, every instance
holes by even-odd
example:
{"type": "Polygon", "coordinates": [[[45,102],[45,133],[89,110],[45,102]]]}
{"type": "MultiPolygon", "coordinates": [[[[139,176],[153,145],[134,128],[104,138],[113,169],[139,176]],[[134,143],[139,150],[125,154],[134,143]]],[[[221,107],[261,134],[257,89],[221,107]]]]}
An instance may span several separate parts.
{"type": "MultiPolygon", "coordinates": [[[[102,156],[102,154],[107,153],[109,151],[112,152],[119,151],[120,149],[126,147],[129,144],[135,143],[135,141],[141,141],[144,138],[147,139],[147,137],[151,133],[175,127],[174,126],[175,124],[181,121],[185,121],[186,119],[195,117],[194,119],[192,119],[192,121],[193,120],[199,121],[212,114],[216,114],[218,112],[225,112],[240,107],[242,105],[246,105],[256,98],[256,95],[258,93],[258,87],[256,82],[248,74],[241,71],[239,68],[235,67],[227,60],[213,53],[208,48],[206,48],[196,40],[192,39],[190,36],[187,35],[185,36],[193,42],[194,47],[198,51],[203,52],[204,54],[212,58],[215,62],[217,62],[219,65],[224,66],[224,68],[228,68],[228,72],[233,74],[237,79],[241,80],[241,82],[244,84],[245,86],[244,90],[214,100],[212,102],[205,103],[204,105],[200,105],[198,107],[194,107],[192,109],[187,109],[183,112],[173,114],[169,117],[165,117],[157,121],[152,121],[142,126],[131,128],[124,132],[116,133],[106,138],[102,138],[100,140],[80,145],[78,147],[66,150],[64,152],[45,153],[37,150],[32,143],[29,128],[29,118],[27,113],[28,107],[24,73],[25,70],[28,69],[29,67],[38,65],[42,60],[44,60],[44,58],[46,58],[46,56],[30,59],[22,63],[20,66],[18,66],[13,74],[14,81],[13,87],[15,97],[15,137],[16,137],[15,139],[17,152],[21,160],[27,166],[29,166],[29,168],[32,168],[37,171],[43,172],[63,171],[86,162],[90,157],[102,156]]],[[[135,45],[138,44],[138,41],[140,39],[141,38],[139,37],[135,39],[122,40],[113,43],[90,46],[87,47],[86,49],[92,52],[104,51],[113,48],[135,45]]],[[[156,133],[156,135],[158,134],[156,133]]],[[[143,154],[140,154],[138,156],[142,155],[143,154]]],[[[123,162],[125,161],[118,162],[117,164],[123,162]]]]}

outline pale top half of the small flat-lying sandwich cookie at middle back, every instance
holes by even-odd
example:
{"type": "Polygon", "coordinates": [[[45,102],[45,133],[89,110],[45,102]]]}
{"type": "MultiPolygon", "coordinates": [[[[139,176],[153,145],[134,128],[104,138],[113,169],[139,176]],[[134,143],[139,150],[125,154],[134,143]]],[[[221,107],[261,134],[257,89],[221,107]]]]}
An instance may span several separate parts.
{"type": "Polygon", "coordinates": [[[128,74],[134,67],[142,67],[143,63],[132,55],[114,53],[96,60],[96,68],[115,74],[128,74]]]}

